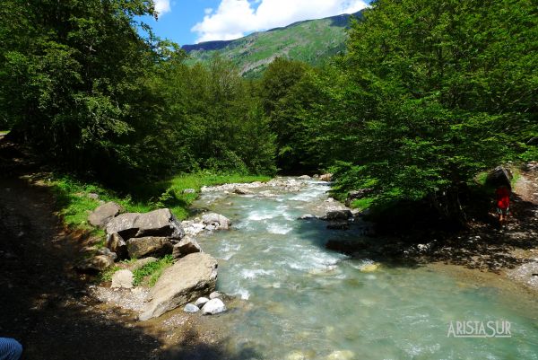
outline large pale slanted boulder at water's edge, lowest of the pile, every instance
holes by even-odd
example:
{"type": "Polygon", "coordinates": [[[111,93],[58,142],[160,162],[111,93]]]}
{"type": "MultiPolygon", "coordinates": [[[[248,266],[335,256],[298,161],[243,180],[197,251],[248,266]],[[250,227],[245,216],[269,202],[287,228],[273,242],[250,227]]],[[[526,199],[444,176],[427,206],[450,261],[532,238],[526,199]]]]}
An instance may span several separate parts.
{"type": "Polygon", "coordinates": [[[217,281],[217,261],[204,252],[179,259],[162,273],[153,286],[140,320],[161,316],[186,303],[209,294],[217,281]]]}

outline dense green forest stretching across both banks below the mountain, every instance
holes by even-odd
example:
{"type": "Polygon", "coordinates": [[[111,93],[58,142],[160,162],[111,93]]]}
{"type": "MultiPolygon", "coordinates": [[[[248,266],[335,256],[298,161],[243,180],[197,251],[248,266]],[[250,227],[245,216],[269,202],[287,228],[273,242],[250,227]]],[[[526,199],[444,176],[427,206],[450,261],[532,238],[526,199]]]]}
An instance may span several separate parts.
{"type": "Polygon", "coordinates": [[[346,51],[277,58],[258,80],[187,65],[148,0],[7,0],[0,127],[49,162],[120,187],[178,172],[334,171],[372,201],[462,213],[464,185],[538,158],[532,0],[378,0],[346,51]]]}

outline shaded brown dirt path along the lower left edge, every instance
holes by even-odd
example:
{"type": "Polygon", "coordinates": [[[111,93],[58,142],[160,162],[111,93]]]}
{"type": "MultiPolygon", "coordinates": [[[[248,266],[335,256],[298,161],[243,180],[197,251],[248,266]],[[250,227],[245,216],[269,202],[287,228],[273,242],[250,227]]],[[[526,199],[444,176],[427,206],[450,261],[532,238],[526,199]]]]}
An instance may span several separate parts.
{"type": "Polygon", "coordinates": [[[161,343],[134,317],[103,312],[73,270],[78,242],[53,215],[47,189],[0,180],[0,333],[24,359],[152,359],[161,343]]]}

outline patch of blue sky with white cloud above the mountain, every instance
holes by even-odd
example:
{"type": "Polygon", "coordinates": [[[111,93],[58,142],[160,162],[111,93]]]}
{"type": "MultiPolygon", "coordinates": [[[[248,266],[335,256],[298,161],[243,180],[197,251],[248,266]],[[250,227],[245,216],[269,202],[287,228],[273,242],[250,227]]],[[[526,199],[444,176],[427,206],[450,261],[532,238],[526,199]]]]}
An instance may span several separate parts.
{"type": "Polygon", "coordinates": [[[145,19],[180,45],[232,40],[291,22],[355,13],[368,0],[154,0],[159,20],[145,19]]]}

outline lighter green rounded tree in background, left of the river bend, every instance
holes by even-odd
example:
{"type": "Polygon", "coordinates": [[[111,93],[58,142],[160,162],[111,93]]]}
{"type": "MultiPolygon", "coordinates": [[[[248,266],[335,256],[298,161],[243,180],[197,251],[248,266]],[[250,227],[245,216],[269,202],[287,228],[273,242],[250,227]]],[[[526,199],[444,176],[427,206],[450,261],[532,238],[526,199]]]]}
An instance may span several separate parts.
{"type": "Polygon", "coordinates": [[[256,97],[230,62],[167,61],[155,83],[181,171],[273,173],[274,136],[256,97]]]}

